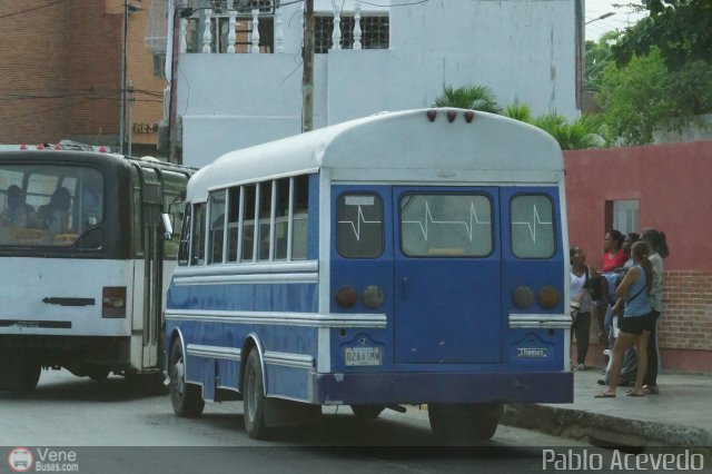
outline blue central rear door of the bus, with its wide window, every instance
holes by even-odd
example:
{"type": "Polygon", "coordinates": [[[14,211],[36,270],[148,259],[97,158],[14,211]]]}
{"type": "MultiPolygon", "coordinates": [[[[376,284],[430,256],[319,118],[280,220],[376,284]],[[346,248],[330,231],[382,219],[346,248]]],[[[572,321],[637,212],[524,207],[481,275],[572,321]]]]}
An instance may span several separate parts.
{"type": "Polygon", "coordinates": [[[497,188],[394,188],[395,362],[501,361],[497,188]]]}

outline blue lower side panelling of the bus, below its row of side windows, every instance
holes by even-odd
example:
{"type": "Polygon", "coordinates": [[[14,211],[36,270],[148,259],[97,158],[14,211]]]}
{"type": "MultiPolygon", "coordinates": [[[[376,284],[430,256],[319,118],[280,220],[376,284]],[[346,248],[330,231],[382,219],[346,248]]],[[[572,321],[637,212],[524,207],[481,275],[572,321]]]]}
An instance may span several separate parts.
{"type": "Polygon", "coordinates": [[[239,364],[247,354],[238,356],[238,350],[250,334],[259,340],[265,357],[268,395],[308,398],[305,361],[316,357],[317,329],[288,324],[283,314],[316,313],[317,284],[174,284],[168,308],[166,334],[169,337],[174,328],[180,329],[187,352],[186,379],[204,385],[207,399],[214,398],[215,386],[240,388],[239,364]],[[191,316],[171,319],[171,309],[190,310],[191,316]],[[299,383],[270,383],[276,371],[299,383]]]}

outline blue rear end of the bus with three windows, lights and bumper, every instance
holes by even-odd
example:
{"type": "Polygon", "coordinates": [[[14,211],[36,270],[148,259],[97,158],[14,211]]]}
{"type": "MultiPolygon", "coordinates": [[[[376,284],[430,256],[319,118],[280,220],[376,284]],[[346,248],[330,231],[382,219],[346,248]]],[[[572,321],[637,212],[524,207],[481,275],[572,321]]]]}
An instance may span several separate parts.
{"type": "Polygon", "coordinates": [[[330,313],[383,324],[330,329],[315,402],[572,402],[561,191],[334,186],[330,313]]]}

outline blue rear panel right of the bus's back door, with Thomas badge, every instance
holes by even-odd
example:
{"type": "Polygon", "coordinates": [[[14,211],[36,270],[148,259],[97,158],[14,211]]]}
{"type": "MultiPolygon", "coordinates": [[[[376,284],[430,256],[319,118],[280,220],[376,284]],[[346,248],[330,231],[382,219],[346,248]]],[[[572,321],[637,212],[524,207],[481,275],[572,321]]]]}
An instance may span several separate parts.
{"type": "Polygon", "coordinates": [[[503,307],[503,334],[502,359],[512,369],[530,371],[561,371],[564,364],[565,330],[557,328],[538,328],[536,325],[526,328],[512,328],[508,315],[562,315],[565,314],[567,302],[564,302],[564,253],[562,238],[562,223],[558,216],[560,209],[558,188],[555,187],[510,187],[503,188],[501,195],[502,220],[507,223],[508,229],[503,235],[503,269],[502,280],[502,307],[503,307]],[[512,199],[516,196],[544,195],[551,199],[552,216],[544,217],[541,209],[532,209],[528,221],[513,224],[511,216],[512,199]],[[517,258],[513,250],[512,226],[521,225],[527,228],[526,234],[531,238],[540,238],[543,226],[553,218],[554,254],[548,258],[517,258]],[[538,234],[537,234],[538,231],[538,234]],[[517,308],[513,303],[514,290],[518,287],[528,287],[534,292],[534,303],[527,308],[517,308]],[[542,288],[551,286],[560,295],[558,303],[553,308],[544,308],[538,304],[538,295],[542,288]]]}

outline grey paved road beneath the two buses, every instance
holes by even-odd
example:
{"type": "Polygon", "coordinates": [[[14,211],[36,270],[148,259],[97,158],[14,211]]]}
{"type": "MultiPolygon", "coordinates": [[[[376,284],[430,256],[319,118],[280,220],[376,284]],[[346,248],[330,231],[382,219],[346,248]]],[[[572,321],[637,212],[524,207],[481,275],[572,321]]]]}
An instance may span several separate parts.
{"type": "Polygon", "coordinates": [[[244,432],[241,403],[208,404],[202,417],[181,419],[168,396],[146,396],[120,377],[95,383],[44,372],[32,394],[0,393],[0,446],[28,446],[36,458],[37,446],[63,446],[77,453],[79,472],[165,472],[167,465],[174,472],[239,472],[235,466],[241,465],[253,473],[504,473],[542,472],[543,447],[585,445],[500,426],[482,447],[442,447],[424,411],[358,423],[347,407],[325,409],[315,427],[258,442],[244,432]]]}

